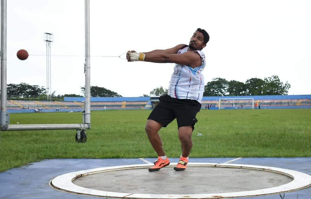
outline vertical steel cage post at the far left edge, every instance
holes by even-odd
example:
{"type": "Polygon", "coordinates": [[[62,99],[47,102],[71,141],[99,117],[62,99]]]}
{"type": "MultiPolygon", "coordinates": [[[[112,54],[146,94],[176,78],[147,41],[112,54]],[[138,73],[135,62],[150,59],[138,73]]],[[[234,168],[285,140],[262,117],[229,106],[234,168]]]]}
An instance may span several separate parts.
{"type": "Polygon", "coordinates": [[[7,0],[1,0],[1,126],[8,124],[7,113],[7,0]]]}

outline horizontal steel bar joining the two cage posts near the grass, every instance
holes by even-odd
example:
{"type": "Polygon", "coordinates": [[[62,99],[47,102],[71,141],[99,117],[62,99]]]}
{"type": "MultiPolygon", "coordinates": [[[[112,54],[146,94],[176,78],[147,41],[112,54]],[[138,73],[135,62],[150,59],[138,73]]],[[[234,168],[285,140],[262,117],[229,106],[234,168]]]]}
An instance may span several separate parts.
{"type": "Polygon", "coordinates": [[[14,124],[1,125],[2,131],[91,129],[91,124],[14,124]]]}

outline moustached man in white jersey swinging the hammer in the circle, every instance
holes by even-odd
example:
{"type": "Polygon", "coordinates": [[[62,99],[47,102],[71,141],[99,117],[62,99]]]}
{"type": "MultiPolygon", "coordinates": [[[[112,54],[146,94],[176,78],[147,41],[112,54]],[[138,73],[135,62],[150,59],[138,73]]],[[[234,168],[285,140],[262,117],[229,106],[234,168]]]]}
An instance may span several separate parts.
{"type": "MultiPolygon", "coordinates": [[[[176,34],[178,32],[168,34],[168,39],[176,34]]],[[[194,124],[197,122],[196,115],[201,110],[205,85],[202,70],[206,61],[202,49],[208,41],[207,32],[198,28],[191,36],[189,45],[179,44],[166,50],[153,50],[144,53],[128,51],[127,53],[128,61],[175,63],[168,94],[159,98],[160,103],[152,110],[145,127],[151,146],[158,154],[158,159],[154,162],[154,166],[148,169],[149,171],[158,171],[169,165],[169,159],[163,150],[158,131],[175,118],[178,124],[178,138],[181,142],[182,154],[174,170],[182,171],[187,167],[188,156],[193,144],[191,136],[194,124]]],[[[167,69],[163,70],[163,72],[166,71],[167,69]]]]}

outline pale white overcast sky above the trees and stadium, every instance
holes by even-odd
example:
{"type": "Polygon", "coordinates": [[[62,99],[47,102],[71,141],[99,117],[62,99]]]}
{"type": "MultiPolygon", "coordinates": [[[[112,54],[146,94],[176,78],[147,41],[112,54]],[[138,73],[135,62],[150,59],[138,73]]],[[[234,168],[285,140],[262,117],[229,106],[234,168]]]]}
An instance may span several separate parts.
{"type": "MultiPolygon", "coordinates": [[[[245,83],[278,75],[290,83],[288,94],[311,94],[310,10],[307,0],[90,0],[91,56],[188,44],[193,32],[202,28],[210,35],[202,50],[205,84],[217,77],[245,83]]],[[[52,92],[81,94],[83,0],[7,0],[7,84],[46,87],[45,32],[54,35],[52,92]],[[29,52],[27,60],[17,59],[19,49],[29,52]]],[[[173,68],[169,63],[91,57],[91,85],[138,97],[159,86],[168,88],[173,68]]]]}

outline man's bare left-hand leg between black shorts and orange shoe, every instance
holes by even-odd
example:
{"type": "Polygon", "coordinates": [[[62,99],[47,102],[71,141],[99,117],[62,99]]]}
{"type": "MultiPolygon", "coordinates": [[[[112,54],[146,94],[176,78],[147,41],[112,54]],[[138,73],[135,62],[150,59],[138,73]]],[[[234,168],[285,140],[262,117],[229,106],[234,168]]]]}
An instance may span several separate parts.
{"type": "Polygon", "coordinates": [[[162,126],[163,126],[162,124],[154,120],[147,120],[145,127],[151,146],[154,148],[158,156],[165,156],[165,152],[162,147],[162,140],[158,133],[158,131],[162,128],[162,126]]]}

